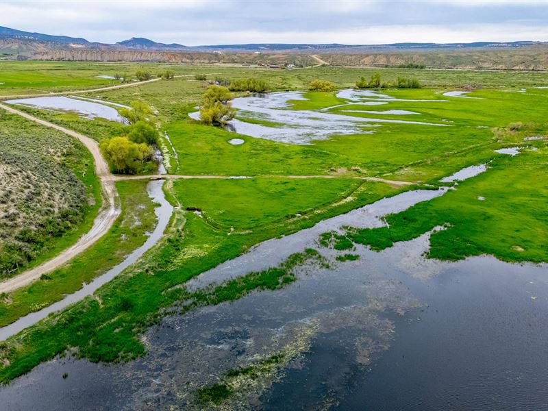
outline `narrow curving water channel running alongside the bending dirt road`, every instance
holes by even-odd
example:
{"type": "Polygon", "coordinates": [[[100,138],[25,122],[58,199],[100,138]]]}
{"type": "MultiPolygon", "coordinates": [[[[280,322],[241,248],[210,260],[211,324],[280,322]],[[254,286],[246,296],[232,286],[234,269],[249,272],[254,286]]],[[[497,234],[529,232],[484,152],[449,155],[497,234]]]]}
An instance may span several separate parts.
{"type": "Polygon", "coordinates": [[[169,219],[171,218],[171,213],[173,212],[173,207],[164,197],[164,191],[162,190],[163,184],[164,182],[161,180],[151,181],[147,184],[147,192],[149,193],[149,197],[154,203],[160,204],[160,206],[154,209],[158,223],[143,245],[132,251],[132,253],[130,253],[129,256],[123,260],[123,262],[112,267],[112,269],[106,273],[99,275],[99,277],[95,277],[92,282],[89,284],[84,284],[80,290],[73,292],[71,295],[67,295],[61,301],[53,303],[51,306],[46,308],[42,308],[40,311],[27,314],[10,325],[1,327],[0,340],[5,340],[10,336],[14,336],[26,327],[34,325],[38,323],[38,321],[45,319],[52,312],[62,310],[63,308],[84,299],[88,295],[92,295],[101,286],[110,282],[110,280],[116,277],[116,275],[119,275],[122,271],[127,269],[127,267],[134,264],[134,262],[136,262],[145,253],[145,251],[151,249],[164,234],[164,230],[167,227],[169,219]]]}

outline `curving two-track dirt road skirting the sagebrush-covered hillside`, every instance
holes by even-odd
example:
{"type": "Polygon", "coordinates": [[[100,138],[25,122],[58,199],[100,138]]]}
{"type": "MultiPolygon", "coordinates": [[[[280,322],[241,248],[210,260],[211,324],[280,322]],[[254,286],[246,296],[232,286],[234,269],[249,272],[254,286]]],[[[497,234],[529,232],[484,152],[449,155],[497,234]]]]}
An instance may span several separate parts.
{"type": "Polygon", "coordinates": [[[40,125],[59,130],[60,132],[80,140],[80,142],[86,146],[93,156],[93,160],[95,162],[95,173],[97,177],[99,177],[99,182],[101,182],[101,194],[103,197],[103,205],[101,206],[97,217],[95,217],[95,221],[93,222],[93,226],[90,231],[80,237],[74,245],[68,249],[64,249],[57,256],[51,258],[51,260],[48,260],[33,269],[25,271],[16,277],[0,282],[0,292],[10,292],[16,290],[17,288],[26,286],[27,284],[40,278],[40,275],[42,274],[49,273],[49,271],[57,269],[66,262],[69,262],[69,260],[77,256],[79,253],[82,253],[82,251],[88,249],[97,240],[99,240],[103,234],[108,232],[110,227],[112,227],[112,224],[114,224],[116,218],[119,216],[121,209],[119,206],[120,202],[118,199],[118,192],[116,192],[116,186],[114,186],[114,176],[110,173],[109,166],[101,155],[99,145],[95,140],[59,125],[49,123],[49,121],[37,119],[27,113],[11,108],[8,105],[0,103],[0,108],[12,114],[22,116],[30,121],[34,121],[40,125]]]}

